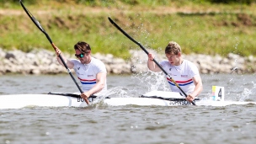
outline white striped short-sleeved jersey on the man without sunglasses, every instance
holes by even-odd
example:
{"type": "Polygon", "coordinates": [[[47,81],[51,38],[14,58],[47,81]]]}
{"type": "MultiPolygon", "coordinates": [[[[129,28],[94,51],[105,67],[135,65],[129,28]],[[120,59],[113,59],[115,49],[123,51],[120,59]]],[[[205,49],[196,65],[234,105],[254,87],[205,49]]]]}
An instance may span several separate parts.
{"type": "MultiPolygon", "coordinates": [[[[194,63],[184,60],[179,66],[172,66],[168,61],[162,61],[160,64],[165,72],[168,72],[173,80],[179,84],[184,93],[189,94],[195,90],[195,83],[192,77],[200,75],[200,73],[194,63]]],[[[173,92],[182,93],[169,77],[166,78],[173,92]]]]}

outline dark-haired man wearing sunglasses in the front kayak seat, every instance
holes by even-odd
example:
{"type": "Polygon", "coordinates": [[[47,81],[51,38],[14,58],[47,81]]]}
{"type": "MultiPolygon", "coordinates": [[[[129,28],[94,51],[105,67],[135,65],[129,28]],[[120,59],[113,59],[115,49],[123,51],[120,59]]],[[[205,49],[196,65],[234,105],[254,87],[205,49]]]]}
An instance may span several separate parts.
{"type": "MultiPolygon", "coordinates": [[[[91,56],[91,47],[88,43],[79,41],[74,45],[76,59],[67,60],[61,55],[60,49],[56,49],[57,61],[62,65],[59,55],[66,62],[67,67],[74,69],[82,84],[83,92],[81,97],[88,99],[94,93],[102,93],[107,90],[107,71],[104,63],[91,56]]],[[[99,94],[97,94],[99,95],[99,94]]]]}

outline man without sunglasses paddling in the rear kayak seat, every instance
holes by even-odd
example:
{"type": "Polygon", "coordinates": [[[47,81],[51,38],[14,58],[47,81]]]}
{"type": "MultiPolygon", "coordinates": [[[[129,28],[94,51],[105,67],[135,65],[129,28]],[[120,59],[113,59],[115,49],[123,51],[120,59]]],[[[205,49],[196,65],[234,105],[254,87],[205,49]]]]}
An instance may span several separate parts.
{"type": "MultiPolygon", "coordinates": [[[[195,64],[191,61],[184,60],[181,56],[180,45],[174,41],[170,41],[165,48],[165,56],[168,61],[161,61],[160,65],[165,72],[179,84],[179,87],[187,94],[186,100],[192,102],[203,89],[200,73],[195,64]]],[[[153,61],[152,53],[148,54],[147,67],[152,72],[162,72],[153,61]]],[[[180,89],[167,77],[170,88],[173,92],[179,92],[180,89]]],[[[182,93],[183,94],[183,93],[182,93]]]]}

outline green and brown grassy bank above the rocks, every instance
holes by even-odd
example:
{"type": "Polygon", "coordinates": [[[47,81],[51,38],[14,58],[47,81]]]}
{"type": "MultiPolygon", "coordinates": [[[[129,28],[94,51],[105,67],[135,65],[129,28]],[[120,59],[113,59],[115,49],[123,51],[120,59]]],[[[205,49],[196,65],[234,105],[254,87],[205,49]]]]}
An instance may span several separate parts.
{"type": "MultiPolygon", "coordinates": [[[[168,41],[177,41],[184,53],[227,56],[256,56],[255,5],[210,4],[195,1],[168,3],[96,3],[88,6],[40,1],[27,4],[61,49],[73,53],[73,45],[87,41],[93,53],[111,53],[129,58],[128,50],[139,50],[131,40],[109,23],[114,19],[131,37],[148,49],[163,51],[168,41]]],[[[144,1],[143,1],[144,2],[144,1]]],[[[19,3],[3,6],[0,11],[0,47],[31,51],[52,50],[45,35],[24,13],[19,3]]],[[[53,50],[52,50],[53,51],[53,50]]]]}

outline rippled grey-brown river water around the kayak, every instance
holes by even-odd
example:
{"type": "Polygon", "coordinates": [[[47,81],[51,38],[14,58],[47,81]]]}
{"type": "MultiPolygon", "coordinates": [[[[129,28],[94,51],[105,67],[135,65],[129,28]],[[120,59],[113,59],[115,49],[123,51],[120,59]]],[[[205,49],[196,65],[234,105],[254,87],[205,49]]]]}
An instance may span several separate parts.
{"type": "MultiPolygon", "coordinates": [[[[225,87],[225,99],[256,100],[255,74],[202,75],[200,98],[211,97],[213,85],[225,87]]],[[[78,82],[78,81],[77,81],[78,82]]],[[[137,97],[167,90],[162,75],[109,75],[110,97],[137,97]]],[[[0,95],[77,92],[65,75],[0,76],[0,95]]],[[[252,144],[256,141],[256,105],[107,106],[87,108],[0,109],[0,143],[93,144],[252,144]]]]}

